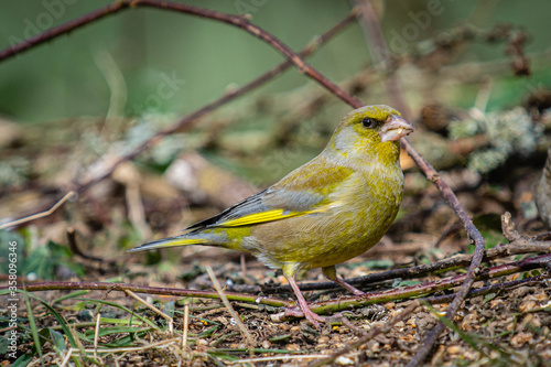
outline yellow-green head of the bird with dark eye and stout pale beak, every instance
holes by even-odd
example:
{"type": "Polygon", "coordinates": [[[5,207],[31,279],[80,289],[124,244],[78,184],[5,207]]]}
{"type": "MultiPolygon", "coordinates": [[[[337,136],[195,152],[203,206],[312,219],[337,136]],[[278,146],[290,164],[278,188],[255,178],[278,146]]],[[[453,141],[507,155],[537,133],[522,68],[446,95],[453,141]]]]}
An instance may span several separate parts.
{"type": "Polygon", "coordinates": [[[400,138],[413,130],[393,108],[385,105],[364,106],[343,118],[327,148],[347,158],[391,154],[398,159],[400,138]]]}

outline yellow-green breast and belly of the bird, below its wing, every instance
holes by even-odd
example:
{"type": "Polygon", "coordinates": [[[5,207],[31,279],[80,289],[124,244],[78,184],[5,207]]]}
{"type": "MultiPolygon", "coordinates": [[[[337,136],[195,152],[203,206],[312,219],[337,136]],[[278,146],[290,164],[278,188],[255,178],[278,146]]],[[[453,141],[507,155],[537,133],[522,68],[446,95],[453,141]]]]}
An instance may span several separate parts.
{"type": "Polygon", "coordinates": [[[356,171],[328,194],[317,213],[263,224],[252,229],[257,253],[278,267],[327,267],[375,246],[392,224],[402,198],[401,170],[371,165],[356,171]]]}

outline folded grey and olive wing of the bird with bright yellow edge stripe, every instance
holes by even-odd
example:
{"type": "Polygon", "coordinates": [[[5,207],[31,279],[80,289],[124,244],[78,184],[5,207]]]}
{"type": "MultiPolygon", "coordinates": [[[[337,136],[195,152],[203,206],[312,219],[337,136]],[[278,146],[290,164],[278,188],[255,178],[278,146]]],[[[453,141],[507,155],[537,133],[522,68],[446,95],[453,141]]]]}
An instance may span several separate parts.
{"type": "Polygon", "coordinates": [[[328,194],[353,171],[339,166],[325,169],[318,164],[306,164],[273,186],[185,230],[257,225],[326,211],[332,206],[327,201],[328,194]]]}

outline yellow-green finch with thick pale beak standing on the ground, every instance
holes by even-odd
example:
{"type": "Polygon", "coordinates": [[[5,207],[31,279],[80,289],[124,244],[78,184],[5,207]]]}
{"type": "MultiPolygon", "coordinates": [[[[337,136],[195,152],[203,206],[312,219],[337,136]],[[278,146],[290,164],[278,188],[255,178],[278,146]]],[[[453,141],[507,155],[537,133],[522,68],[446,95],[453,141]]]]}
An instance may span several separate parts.
{"type": "Polygon", "coordinates": [[[403,195],[399,140],[413,131],[388,106],[355,109],[317,156],[279,182],[182,235],[129,251],[206,245],[250,252],[282,270],[303,315],[320,328],[325,317],[310,309],[296,273],[321,268],[327,279],[364,294],[339,278],[335,266],[374,247],[395,220],[403,195]]]}

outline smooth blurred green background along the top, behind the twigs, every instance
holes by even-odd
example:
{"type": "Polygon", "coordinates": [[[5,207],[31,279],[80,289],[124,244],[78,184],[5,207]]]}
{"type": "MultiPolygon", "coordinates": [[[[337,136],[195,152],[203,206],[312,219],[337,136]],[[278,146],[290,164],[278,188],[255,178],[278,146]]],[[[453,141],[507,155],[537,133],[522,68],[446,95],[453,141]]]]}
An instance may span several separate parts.
{"type": "MultiPolygon", "coordinates": [[[[43,0],[3,2],[0,47],[85,14],[110,1],[43,0]]],[[[348,1],[238,0],[182,1],[229,13],[248,12],[251,21],[293,50],[327,30],[350,10],[348,1]]],[[[418,43],[454,25],[468,22],[483,29],[508,22],[531,34],[527,51],[538,54],[549,44],[549,1],[412,1],[379,2],[387,41],[397,34],[418,43]],[[428,7],[439,14],[415,23],[428,7]],[[421,24],[415,33],[408,24],[421,24]]],[[[414,25],[413,25],[414,28],[414,25]]],[[[400,50],[399,50],[400,51],[400,50]]],[[[456,63],[505,60],[504,45],[472,44],[456,63]]],[[[0,64],[0,114],[15,121],[47,121],[67,117],[104,117],[110,107],[106,75],[123,80],[126,116],[149,111],[176,116],[215,99],[282,61],[263,42],[226,24],[155,9],[132,9],[110,15],[0,64]],[[166,82],[169,79],[172,83],[166,82]]],[[[355,75],[370,61],[357,24],[346,29],[310,62],[334,82],[355,75]]],[[[540,83],[534,65],[531,83],[540,83]]],[[[540,75],[541,76],[541,75],[540,75]]],[[[256,94],[288,91],[309,79],[287,72],[256,94]]],[[[523,82],[527,83],[527,82],[523,82]]],[[[526,90],[516,90],[516,94],[526,90]]],[[[474,94],[468,101],[474,100],[474,94]]],[[[375,97],[366,102],[381,102],[375,97]]]]}

